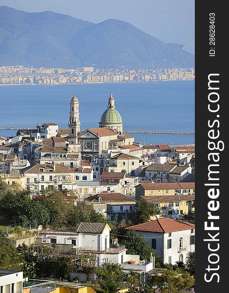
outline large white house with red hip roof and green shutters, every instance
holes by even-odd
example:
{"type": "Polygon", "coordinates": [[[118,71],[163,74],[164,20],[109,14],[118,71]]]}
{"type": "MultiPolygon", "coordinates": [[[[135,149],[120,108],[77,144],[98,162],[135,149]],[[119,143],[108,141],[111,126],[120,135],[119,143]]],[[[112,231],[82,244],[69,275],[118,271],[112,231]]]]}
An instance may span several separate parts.
{"type": "Polygon", "coordinates": [[[187,253],[195,251],[195,225],[191,223],[161,218],[125,229],[143,235],[163,264],[185,263],[187,253]]]}

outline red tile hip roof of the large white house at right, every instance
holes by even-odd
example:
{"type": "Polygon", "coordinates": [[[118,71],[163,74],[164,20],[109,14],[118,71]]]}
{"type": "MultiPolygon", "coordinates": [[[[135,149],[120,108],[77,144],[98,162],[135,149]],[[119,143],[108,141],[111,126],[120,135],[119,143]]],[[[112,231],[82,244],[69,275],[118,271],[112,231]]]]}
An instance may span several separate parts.
{"type": "Polygon", "coordinates": [[[136,231],[169,233],[169,232],[191,230],[194,228],[195,228],[194,224],[177,221],[170,218],[162,218],[162,219],[156,219],[154,221],[142,223],[139,225],[127,227],[125,229],[136,230],[136,231]]]}

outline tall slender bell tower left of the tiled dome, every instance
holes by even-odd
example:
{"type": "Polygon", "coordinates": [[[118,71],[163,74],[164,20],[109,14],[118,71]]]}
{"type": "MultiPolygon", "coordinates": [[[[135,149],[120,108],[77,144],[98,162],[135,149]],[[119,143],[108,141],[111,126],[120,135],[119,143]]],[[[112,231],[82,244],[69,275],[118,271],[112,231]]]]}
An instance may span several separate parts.
{"type": "Polygon", "coordinates": [[[80,113],[79,113],[79,101],[77,97],[73,97],[70,102],[70,117],[68,121],[68,127],[70,135],[68,136],[69,144],[78,144],[78,135],[80,133],[80,113]]]}

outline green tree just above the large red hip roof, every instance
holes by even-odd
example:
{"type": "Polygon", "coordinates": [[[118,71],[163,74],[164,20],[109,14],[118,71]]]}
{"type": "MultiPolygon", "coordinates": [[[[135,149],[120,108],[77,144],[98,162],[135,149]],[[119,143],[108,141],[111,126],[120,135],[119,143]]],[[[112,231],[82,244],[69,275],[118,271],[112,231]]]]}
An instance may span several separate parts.
{"type": "Polygon", "coordinates": [[[136,212],[133,217],[133,222],[136,225],[148,222],[150,217],[156,215],[158,211],[154,203],[146,201],[143,197],[140,197],[140,199],[136,201],[135,209],[136,212]]]}

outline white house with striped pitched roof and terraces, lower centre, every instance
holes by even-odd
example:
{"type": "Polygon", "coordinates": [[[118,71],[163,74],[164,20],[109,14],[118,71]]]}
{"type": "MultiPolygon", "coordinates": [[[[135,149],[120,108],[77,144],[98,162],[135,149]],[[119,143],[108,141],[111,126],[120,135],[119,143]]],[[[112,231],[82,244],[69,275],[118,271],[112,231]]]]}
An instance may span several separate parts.
{"type": "Polygon", "coordinates": [[[152,262],[141,262],[139,255],[126,254],[125,245],[110,244],[110,227],[105,223],[82,222],[78,229],[45,229],[38,230],[38,241],[52,245],[65,245],[76,249],[79,254],[95,258],[97,267],[106,263],[120,264],[125,271],[149,272],[152,262]]]}

